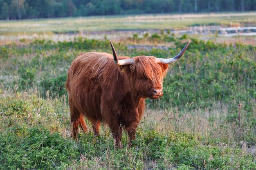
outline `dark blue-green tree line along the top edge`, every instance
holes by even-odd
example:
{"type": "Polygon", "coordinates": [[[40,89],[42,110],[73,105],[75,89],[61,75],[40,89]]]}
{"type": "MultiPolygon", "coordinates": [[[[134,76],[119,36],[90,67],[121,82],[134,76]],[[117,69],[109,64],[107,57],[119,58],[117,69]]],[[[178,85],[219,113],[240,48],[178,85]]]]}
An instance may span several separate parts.
{"type": "Polygon", "coordinates": [[[255,11],[256,0],[0,0],[0,19],[255,11]]]}

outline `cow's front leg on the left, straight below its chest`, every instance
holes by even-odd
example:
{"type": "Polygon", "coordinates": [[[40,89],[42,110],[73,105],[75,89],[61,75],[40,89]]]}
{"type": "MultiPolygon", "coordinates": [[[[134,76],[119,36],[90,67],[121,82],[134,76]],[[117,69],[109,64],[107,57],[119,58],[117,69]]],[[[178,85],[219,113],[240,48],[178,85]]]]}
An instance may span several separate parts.
{"type": "Polygon", "coordinates": [[[109,125],[110,129],[112,131],[112,135],[114,137],[115,141],[115,148],[123,148],[122,146],[122,126],[121,123],[117,124],[111,124],[109,125]]]}

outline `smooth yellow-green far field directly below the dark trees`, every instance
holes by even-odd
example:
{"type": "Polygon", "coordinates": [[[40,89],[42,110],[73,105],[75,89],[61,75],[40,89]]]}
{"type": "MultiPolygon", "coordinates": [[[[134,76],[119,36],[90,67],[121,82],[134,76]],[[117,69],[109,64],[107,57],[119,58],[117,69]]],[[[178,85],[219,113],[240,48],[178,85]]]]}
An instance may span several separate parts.
{"type": "Polygon", "coordinates": [[[256,13],[117,15],[0,21],[0,35],[136,29],[184,29],[196,25],[255,26],[256,13]]]}

